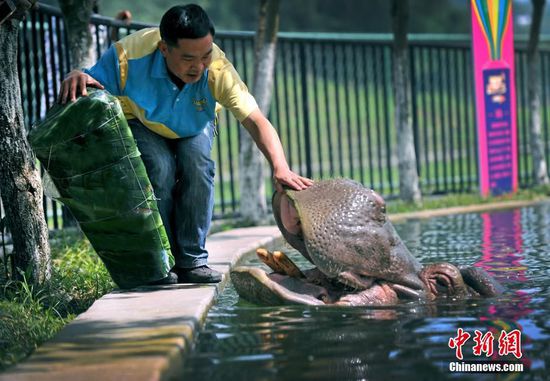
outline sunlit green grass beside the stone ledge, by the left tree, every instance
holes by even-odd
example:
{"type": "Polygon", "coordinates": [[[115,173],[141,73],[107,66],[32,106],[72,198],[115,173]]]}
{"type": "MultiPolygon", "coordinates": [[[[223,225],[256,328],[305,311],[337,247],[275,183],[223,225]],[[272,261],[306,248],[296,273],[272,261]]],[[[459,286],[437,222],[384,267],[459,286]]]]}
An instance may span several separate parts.
{"type": "Polygon", "coordinates": [[[0,289],[0,370],[28,356],[114,287],[79,233],[60,233],[51,245],[52,278],[47,284],[7,281],[0,289]]]}

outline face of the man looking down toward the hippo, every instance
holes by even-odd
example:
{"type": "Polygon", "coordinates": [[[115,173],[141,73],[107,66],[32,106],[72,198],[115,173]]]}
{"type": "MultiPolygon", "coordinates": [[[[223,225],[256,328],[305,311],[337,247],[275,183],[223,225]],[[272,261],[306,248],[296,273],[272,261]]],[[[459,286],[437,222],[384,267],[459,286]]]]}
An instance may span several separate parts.
{"type": "Polygon", "coordinates": [[[159,48],[166,59],[166,66],[185,83],[197,82],[212,62],[212,35],[201,38],[180,38],[177,46],[165,41],[159,48]]]}

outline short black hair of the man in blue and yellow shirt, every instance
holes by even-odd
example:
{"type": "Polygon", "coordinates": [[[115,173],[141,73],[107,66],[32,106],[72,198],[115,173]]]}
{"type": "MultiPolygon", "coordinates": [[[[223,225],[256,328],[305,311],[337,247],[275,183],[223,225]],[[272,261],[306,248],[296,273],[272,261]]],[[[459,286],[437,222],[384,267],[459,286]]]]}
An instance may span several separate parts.
{"type": "Polygon", "coordinates": [[[202,38],[208,33],[214,37],[214,24],[196,4],[176,5],[160,20],[160,36],[171,46],[177,46],[180,38],[202,38]]]}

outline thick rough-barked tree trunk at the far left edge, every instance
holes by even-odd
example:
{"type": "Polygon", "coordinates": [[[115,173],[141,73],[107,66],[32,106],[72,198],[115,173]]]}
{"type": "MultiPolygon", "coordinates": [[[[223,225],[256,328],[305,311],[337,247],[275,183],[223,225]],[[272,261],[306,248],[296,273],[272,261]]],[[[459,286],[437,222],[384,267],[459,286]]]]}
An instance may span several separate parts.
{"type": "Polygon", "coordinates": [[[18,21],[0,26],[0,193],[13,239],[13,277],[31,283],[50,277],[48,227],[42,183],[26,139],[17,74],[18,21]]]}

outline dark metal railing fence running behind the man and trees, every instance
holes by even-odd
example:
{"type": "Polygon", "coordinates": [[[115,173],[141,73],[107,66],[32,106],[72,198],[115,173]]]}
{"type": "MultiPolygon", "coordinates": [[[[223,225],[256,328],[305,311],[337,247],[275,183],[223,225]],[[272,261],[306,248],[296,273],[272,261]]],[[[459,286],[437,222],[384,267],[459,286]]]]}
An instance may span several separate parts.
{"type": "MultiPolygon", "coordinates": [[[[122,27],[94,16],[97,56],[112,42],[149,26],[122,27]]],[[[222,32],[216,43],[245,82],[253,76],[251,32],[222,32]]],[[[475,191],[478,186],[472,59],[468,36],[411,36],[410,78],[415,147],[424,195],[475,191]]],[[[41,6],[21,23],[18,65],[26,125],[53,104],[70,70],[59,10],[41,6]]],[[[519,180],[531,184],[525,44],[516,43],[519,180]]],[[[543,138],[550,160],[550,48],[540,63],[543,138]]],[[[386,197],[399,192],[394,128],[391,35],[281,33],[269,115],[291,168],[315,179],[349,177],[386,197]]],[[[215,218],[238,213],[238,147],[242,129],[223,111],[213,156],[217,162],[215,218]]],[[[267,171],[269,172],[269,171],[267,171]]],[[[266,175],[271,188],[269,173],[266,175]]],[[[62,225],[61,207],[45,199],[50,228],[62,225]]]]}

